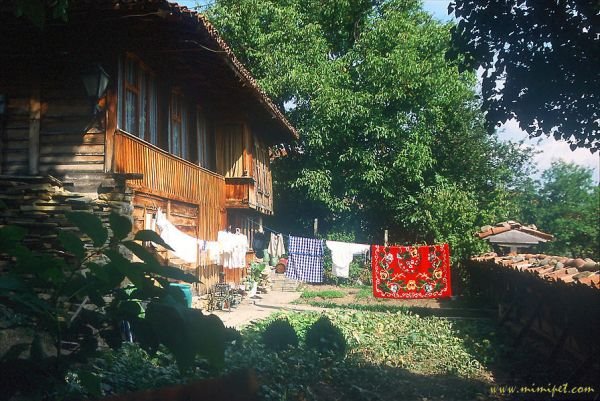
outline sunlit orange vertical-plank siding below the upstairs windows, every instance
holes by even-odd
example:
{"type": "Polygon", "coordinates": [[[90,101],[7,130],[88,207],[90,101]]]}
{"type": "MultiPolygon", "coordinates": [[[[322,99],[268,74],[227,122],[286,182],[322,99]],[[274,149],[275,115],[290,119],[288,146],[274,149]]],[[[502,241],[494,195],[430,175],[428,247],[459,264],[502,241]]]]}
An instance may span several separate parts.
{"type": "Polygon", "coordinates": [[[142,174],[127,181],[135,191],[197,205],[199,233],[206,238],[216,238],[224,224],[225,179],[219,174],[123,132],[115,135],[114,172],[142,174]]]}

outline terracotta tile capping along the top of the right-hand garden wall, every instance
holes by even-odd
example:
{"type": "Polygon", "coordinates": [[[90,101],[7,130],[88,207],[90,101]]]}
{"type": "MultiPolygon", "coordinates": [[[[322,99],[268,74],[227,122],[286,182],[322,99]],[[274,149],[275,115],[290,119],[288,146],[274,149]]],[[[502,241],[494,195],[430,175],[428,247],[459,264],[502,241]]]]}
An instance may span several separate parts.
{"type": "Polygon", "coordinates": [[[545,280],[560,280],[600,289],[600,263],[592,259],[570,259],[544,254],[498,256],[491,252],[473,260],[494,262],[499,266],[536,274],[545,280]]]}

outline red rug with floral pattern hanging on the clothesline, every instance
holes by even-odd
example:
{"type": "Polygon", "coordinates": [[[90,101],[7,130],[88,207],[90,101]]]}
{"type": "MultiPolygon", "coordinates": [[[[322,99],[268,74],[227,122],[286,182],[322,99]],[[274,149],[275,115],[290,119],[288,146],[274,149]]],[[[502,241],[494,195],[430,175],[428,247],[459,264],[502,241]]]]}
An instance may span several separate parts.
{"type": "Polygon", "coordinates": [[[448,244],[371,248],[373,295],[377,298],[443,298],[450,287],[448,244]]]}

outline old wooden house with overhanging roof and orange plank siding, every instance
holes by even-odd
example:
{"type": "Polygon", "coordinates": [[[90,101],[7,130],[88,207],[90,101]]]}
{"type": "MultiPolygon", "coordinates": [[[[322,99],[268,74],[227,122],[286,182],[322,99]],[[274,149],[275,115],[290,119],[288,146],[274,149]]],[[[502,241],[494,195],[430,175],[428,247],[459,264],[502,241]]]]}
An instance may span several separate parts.
{"type": "Polygon", "coordinates": [[[250,236],[273,213],[269,147],[297,133],[203,15],[77,0],[39,29],[11,4],[0,4],[0,194],[21,206],[0,223],[39,227],[79,195],[117,204],[135,229],[160,208],[204,240],[227,226],[250,236]],[[28,192],[42,182],[62,195],[28,192]]]}

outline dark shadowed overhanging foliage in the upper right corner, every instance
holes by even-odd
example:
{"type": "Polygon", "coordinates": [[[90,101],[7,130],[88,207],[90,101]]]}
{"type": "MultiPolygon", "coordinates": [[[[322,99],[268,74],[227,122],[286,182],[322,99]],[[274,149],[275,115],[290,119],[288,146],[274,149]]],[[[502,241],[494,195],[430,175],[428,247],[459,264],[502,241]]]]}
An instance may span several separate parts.
{"type": "Polygon", "coordinates": [[[449,11],[466,67],[483,68],[490,123],[600,148],[598,1],[454,0],[449,11]]]}

